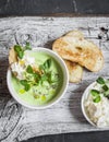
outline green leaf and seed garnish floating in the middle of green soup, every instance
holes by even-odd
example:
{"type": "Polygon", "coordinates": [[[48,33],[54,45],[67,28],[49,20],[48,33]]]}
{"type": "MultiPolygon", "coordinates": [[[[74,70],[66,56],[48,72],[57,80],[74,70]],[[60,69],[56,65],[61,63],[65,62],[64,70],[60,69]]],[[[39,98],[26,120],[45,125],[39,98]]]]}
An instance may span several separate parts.
{"type": "MultiPolygon", "coordinates": [[[[23,88],[20,90],[20,93],[23,94],[24,92],[29,91],[31,87],[34,87],[36,92],[33,93],[33,96],[35,98],[46,100],[46,95],[58,86],[57,81],[59,79],[59,74],[50,70],[51,62],[51,59],[47,59],[43,64],[39,66],[38,72],[33,70],[33,67],[28,64],[25,68],[25,80],[20,81],[20,83],[23,85],[23,88]],[[40,86],[44,87],[44,92],[41,92],[40,86]],[[39,91],[37,91],[38,88],[39,91]]],[[[55,93],[55,91],[52,93],[55,93]]]]}

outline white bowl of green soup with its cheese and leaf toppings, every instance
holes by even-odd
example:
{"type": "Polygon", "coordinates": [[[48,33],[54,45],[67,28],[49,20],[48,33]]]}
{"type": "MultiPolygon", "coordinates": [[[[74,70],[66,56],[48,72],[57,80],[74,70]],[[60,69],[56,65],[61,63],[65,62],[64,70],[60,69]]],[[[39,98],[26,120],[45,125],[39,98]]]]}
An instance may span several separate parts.
{"type": "Polygon", "coordinates": [[[66,91],[69,76],[64,61],[47,48],[27,49],[23,54],[19,48],[14,48],[17,59],[7,73],[11,95],[28,108],[50,107],[66,91]]]}

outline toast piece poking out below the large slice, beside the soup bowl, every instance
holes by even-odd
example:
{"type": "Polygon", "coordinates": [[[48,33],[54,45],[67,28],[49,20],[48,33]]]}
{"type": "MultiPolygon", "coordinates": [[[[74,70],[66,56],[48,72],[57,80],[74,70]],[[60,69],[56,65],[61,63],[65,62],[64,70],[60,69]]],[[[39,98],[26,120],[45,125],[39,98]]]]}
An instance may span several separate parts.
{"type": "Polygon", "coordinates": [[[73,83],[78,83],[83,76],[83,68],[74,62],[64,60],[66,68],[69,70],[69,81],[73,83]]]}

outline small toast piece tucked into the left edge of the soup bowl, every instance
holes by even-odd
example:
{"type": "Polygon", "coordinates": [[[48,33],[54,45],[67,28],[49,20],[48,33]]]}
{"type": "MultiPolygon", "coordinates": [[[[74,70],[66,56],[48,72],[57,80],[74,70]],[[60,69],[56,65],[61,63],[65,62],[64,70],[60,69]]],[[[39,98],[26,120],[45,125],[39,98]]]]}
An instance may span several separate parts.
{"type": "Polygon", "coordinates": [[[12,64],[13,62],[17,61],[17,55],[14,50],[14,48],[12,47],[9,51],[9,64],[12,64]]]}

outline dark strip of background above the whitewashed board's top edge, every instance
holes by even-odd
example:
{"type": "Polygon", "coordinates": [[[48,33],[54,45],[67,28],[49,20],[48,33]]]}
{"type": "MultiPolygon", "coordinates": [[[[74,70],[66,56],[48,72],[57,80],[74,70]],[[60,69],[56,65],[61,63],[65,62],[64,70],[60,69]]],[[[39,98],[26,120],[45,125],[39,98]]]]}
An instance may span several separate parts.
{"type": "Polygon", "coordinates": [[[0,0],[0,16],[109,14],[109,0],[0,0]]]}

